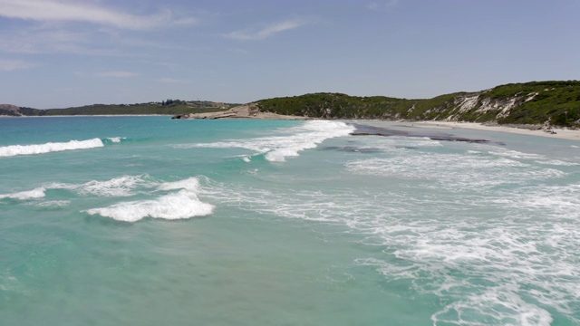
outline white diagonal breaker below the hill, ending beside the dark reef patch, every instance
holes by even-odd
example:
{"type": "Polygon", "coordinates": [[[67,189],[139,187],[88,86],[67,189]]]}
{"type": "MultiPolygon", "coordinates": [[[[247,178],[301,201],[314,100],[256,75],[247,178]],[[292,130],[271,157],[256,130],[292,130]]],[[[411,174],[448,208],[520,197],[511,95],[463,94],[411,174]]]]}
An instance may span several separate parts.
{"type": "Polygon", "coordinates": [[[181,148],[218,148],[218,149],[250,149],[256,154],[264,154],[272,162],[282,162],[285,158],[297,157],[304,149],[314,149],[325,139],[347,136],[354,131],[354,127],[344,122],[328,120],[312,120],[304,125],[280,130],[283,136],[229,140],[208,144],[194,144],[180,146],[181,148]]]}

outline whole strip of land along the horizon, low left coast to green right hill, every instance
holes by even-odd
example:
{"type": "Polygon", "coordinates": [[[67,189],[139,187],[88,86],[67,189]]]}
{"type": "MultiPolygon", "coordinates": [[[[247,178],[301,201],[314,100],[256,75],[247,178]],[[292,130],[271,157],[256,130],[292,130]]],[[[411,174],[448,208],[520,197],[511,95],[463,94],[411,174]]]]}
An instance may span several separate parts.
{"type": "Polygon", "coordinates": [[[49,110],[0,105],[2,116],[131,114],[172,115],[175,119],[434,120],[577,129],[580,82],[510,83],[484,91],[460,91],[420,100],[321,92],[245,105],[180,100],[49,110]]]}

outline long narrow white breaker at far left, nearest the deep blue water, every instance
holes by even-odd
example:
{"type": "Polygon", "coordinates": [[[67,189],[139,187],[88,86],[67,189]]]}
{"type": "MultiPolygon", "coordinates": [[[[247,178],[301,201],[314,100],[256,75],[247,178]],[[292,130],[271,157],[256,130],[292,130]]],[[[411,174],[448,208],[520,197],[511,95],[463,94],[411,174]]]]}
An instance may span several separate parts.
{"type": "Polygon", "coordinates": [[[11,145],[0,147],[0,157],[14,157],[18,155],[45,154],[63,150],[94,149],[103,147],[101,139],[71,140],[68,142],[49,142],[39,145],[11,145]]]}

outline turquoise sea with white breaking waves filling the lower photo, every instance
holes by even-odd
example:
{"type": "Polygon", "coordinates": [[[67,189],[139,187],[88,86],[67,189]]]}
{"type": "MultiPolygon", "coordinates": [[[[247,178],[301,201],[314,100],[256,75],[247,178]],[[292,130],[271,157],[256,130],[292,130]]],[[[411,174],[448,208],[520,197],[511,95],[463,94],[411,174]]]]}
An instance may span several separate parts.
{"type": "Polygon", "coordinates": [[[580,143],[358,123],[0,119],[0,324],[580,324],[580,143]]]}

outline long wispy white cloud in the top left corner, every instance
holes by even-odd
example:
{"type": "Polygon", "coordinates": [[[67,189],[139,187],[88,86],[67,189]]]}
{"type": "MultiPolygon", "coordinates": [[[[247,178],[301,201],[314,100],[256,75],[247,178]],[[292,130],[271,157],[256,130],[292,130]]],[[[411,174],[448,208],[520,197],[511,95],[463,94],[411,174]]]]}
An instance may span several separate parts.
{"type": "Polygon", "coordinates": [[[131,30],[150,29],[171,21],[169,11],[140,16],[97,5],[60,0],[0,0],[0,16],[38,22],[86,22],[131,30]]]}

